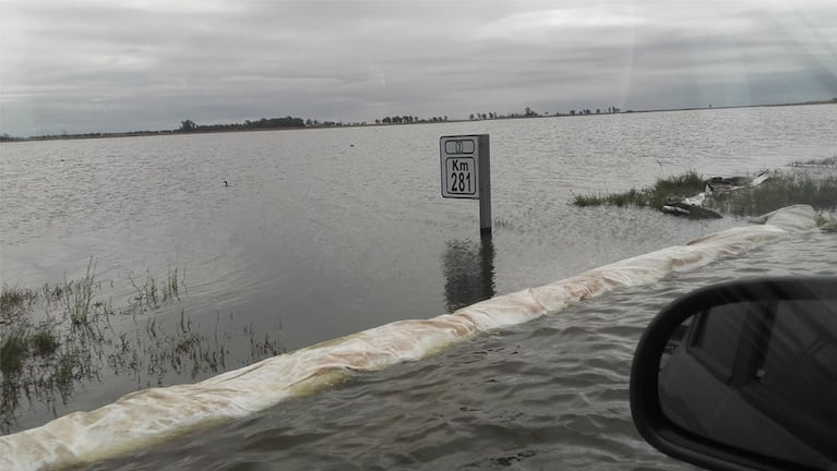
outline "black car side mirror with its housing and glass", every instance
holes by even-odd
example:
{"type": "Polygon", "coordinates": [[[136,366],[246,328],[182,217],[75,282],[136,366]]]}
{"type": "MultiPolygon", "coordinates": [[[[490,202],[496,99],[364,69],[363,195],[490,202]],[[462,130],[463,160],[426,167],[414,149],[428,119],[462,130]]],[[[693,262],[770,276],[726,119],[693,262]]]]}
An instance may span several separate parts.
{"type": "Polygon", "coordinates": [[[707,469],[837,469],[837,277],[678,299],[637,345],[631,413],[655,448],[707,469]]]}

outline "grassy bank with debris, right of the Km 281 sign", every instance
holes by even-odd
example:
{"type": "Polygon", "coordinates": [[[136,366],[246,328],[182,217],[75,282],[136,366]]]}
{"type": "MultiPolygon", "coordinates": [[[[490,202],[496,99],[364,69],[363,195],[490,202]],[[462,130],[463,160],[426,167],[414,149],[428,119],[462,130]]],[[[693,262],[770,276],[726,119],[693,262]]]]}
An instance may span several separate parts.
{"type": "MultiPolygon", "coordinates": [[[[790,170],[775,171],[762,184],[708,196],[704,206],[722,214],[758,216],[792,204],[809,204],[817,210],[837,209],[837,156],[794,161],[790,170]]],[[[705,178],[694,171],[659,179],[641,190],[624,193],[575,195],[577,206],[633,205],[661,209],[667,202],[682,201],[704,191],[705,178]]]]}

